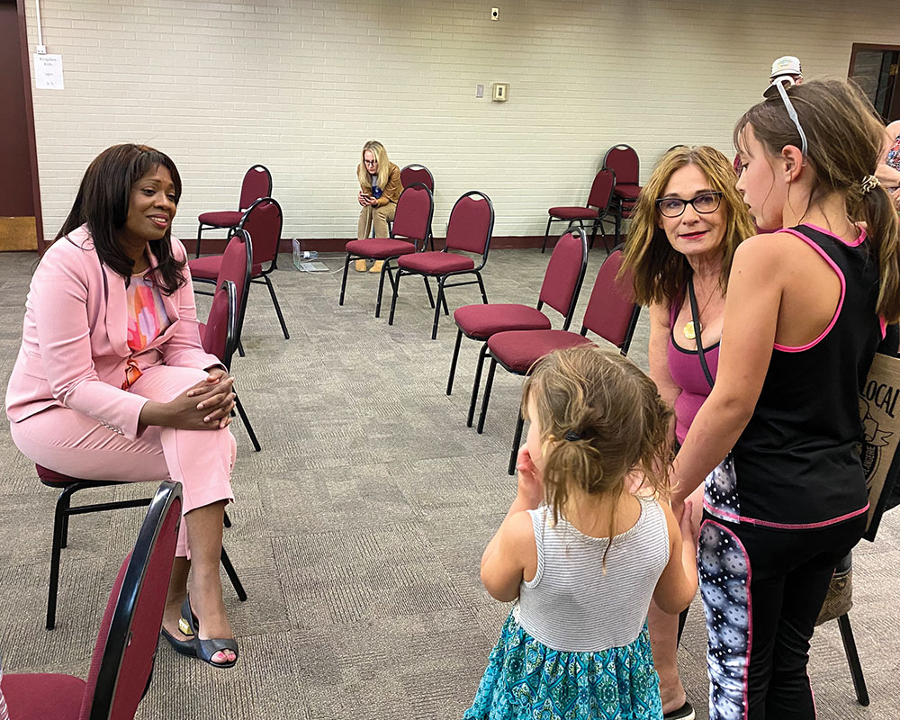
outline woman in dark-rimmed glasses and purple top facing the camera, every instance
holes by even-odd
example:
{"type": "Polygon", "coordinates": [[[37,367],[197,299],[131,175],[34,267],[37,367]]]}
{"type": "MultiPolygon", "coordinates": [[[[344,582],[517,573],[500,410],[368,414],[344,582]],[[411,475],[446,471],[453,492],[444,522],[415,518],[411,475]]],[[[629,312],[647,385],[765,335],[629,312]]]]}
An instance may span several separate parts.
{"type": "MultiPolygon", "coordinates": [[[[716,148],[671,148],[644,186],[628,232],[625,267],[633,269],[637,302],[650,306],[650,377],[675,409],[676,446],[710,392],[698,356],[700,328],[715,378],[728,272],[735,249],[754,234],[735,182],[731,162],[716,148]],[[698,319],[691,314],[689,283],[698,319]]],[[[698,526],[702,491],[691,500],[698,526]]],[[[665,718],[690,720],[694,710],[676,662],[679,617],[654,603],[648,622],[665,718]]]]}

